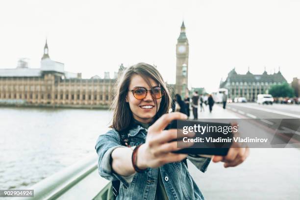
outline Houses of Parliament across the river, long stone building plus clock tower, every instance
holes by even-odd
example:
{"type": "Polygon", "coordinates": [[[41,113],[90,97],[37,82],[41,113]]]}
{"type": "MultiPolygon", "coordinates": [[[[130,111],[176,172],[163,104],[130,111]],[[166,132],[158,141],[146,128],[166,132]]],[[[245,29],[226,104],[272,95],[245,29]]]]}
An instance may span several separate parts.
{"type": "MultiPolygon", "coordinates": [[[[182,22],[176,45],[176,84],[169,84],[170,91],[184,96],[188,94],[189,45],[182,22]]],[[[107,108],[113,98],[117,78],[125,70],[123,64],[114,78],[104,73],[81,78],[81,73],[64,70],[64,64],[50,59],[46,40],[40,68],[28,68],[20,59],[15,69],[0,69],[0,105],[48,105],[53,107],[99,107],[107,108]]]]}

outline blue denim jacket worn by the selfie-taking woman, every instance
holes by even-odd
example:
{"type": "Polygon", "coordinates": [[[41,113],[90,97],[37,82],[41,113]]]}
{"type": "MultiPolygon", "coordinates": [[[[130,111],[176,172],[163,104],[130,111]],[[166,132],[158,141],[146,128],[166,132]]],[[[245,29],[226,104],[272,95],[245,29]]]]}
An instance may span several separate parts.
{"type": "MultiPolygon", "coordinates": [[[[140,125],[130,129],[128,132],[130,146],[145,143],[147,131],[148,129],[140,125]]],[[[108,180],[120,180],[117,200],[153,200],[158,168],[149,168],[142,173],[134,173],[129,176],[118,175],[111,167],[111,153],[119,147],[124,148],[121,145],[119,133],[115,129],[99,136],[95,146],[99,156],[99,175],[108,180]]],[[[211,160],[192,155],[187,158],[203,173],[211,160]]],[[[169,200],[204,200],[197,184],[182,161],[160,166],[160,173],[169,200]]]]}

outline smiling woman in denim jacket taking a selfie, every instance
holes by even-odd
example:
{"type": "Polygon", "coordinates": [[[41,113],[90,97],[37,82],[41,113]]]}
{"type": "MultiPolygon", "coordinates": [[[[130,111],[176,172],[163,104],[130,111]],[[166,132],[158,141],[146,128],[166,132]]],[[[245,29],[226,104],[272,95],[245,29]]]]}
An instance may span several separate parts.
{"type": "MultiPolygon", "coordinates": [[[[182,160],[190,159],[205,172],[211,159],[173,153],[179,150],[176,142],[171,142],[177,131],[164,128],[187,116],[166,114],[171,96],[157,69],[145,63],[133,65],[125,70],[116,89],[112,129],[99,136],[95,149],[99,174],[120,181],[117,199],[204,199],[182,160]]],[[[230,161],[222,156],[213,161],[225,161],[229,167],[247,157],[242,151],[232,152],[230,161]]]]}

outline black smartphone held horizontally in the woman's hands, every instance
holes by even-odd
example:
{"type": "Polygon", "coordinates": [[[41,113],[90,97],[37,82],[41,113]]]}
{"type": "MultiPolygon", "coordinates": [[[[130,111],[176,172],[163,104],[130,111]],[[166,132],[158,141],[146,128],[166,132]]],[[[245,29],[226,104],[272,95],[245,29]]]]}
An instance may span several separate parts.
{"type": "MultiPolygon", "coordinates": [[[[200,121],[189,121],[189,120],[174,120],[172,121],[165,130],[168,129],[183,129],[184,126],[194,126],[197,127],[206,126],[206,129],[209,131],[195,132],[196,135],[193,139],[203,138],[202,142],[195,142],[192,147],[184,148],[181,150],[174,151],[174,153],[187,153],[187,154],[202,154],[202,155],[222,155],[225,156],[228,153],[228,150],[232,144],[233,133],[232,130],[227,130],[230,124],[227,123],[212,123],[212,122],[200,122],[200,121]],[[226,134],[224,132],[217,131],[218,128],[222,130],[227,130],[226,134]],[[220,142],[215,142],[219,140],[220,142]]],[[[203,130],[203,129],[202,129],[203,130]]],[[[182,133],[181,133],[182,136],[182,133]]],[[[183,138],[177,138],[175,141],[182,141],[183,138]]],[[[199,139],[200,140],[200,139],[199,139]]],[[[174,140],[173,140],[174,141],[174,140]]],[[[170,141],[172,142],[172,141],[170,141]]]]}

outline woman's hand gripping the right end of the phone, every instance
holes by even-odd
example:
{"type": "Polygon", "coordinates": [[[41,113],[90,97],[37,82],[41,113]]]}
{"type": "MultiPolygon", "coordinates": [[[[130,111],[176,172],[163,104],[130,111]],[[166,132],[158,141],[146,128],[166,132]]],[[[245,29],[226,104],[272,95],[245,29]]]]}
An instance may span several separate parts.
{"type": "MultiPolygon", "coordinates": [[[[231,124],[232,126],[237,126],[236,123],[231,124]]],[[[226,156],[214,155],[212,157],[213,162],[225,162],[224,167],[235,167],[246,160],[249,156],[249,148],[242,148],[238,143],[233,141],[231,148],[228,150],[226,156]]]]}

